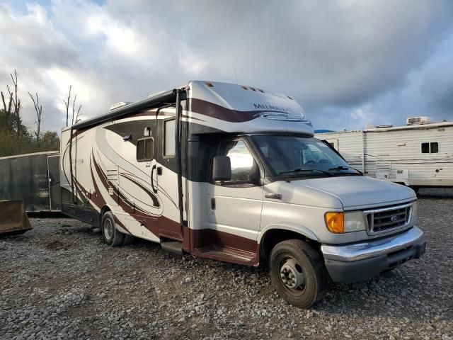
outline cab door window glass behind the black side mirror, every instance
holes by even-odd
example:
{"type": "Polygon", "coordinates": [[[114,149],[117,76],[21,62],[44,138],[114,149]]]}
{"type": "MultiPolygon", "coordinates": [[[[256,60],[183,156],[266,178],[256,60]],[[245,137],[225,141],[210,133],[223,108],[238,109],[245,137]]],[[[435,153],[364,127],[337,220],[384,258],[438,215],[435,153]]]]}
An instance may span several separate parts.
{"type": "Polygon", "coordinates": [[[219,156],[231,161],[231,181],[248,181],[253,168],[253,157],[242,140],[222,142],[219,156]]]}

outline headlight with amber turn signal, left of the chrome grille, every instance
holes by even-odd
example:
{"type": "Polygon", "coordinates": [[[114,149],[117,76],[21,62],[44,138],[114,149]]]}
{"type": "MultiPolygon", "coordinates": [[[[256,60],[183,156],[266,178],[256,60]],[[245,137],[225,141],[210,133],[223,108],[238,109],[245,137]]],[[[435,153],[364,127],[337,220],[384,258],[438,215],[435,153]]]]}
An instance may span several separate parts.
{"type": "Polygon", "coordinates": [[[334,234],[344,232],[358,232],[365,230],[365,215],[361,211],[352,212],[326,212],[326,227],[334,234]]]}

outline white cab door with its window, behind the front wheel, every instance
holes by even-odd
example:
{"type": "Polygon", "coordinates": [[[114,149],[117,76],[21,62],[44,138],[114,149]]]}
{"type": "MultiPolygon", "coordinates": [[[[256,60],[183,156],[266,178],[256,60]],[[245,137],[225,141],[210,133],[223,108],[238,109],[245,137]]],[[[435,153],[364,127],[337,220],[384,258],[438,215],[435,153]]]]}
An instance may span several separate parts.
{"type": "Polygon", "coordinates": [[[219,239],[233,236],[256,240],[263,208],[263,186],[250,179],[258,166],[251,149],[245,140],[225,140],[220,143],[216,156],[230,158],[231,181],[222,185],[213,181],[208,184],[205,203],[209,211],[208,226],[220,233],[219,239]]]}

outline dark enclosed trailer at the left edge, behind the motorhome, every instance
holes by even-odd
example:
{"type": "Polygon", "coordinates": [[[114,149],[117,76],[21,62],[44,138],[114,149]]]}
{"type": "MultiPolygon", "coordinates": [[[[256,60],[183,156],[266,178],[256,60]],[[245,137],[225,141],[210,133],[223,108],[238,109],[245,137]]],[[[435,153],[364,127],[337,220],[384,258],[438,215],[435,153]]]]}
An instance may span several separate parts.
{"type": "Polygon", "coordinates": [[[0,200],[22,200],[28,212],[59,211],[59,152],[0,157],[0,200]]]}

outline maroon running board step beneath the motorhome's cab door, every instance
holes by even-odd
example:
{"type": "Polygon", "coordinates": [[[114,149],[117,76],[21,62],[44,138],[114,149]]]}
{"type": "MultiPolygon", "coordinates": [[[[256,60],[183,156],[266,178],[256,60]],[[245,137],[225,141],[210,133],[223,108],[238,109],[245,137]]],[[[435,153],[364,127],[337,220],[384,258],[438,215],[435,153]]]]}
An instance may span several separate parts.
{"type": "Polygon", "coordinates": [[[195,249],[194,255],[206,259],[245,264],[246,266],[258,265],[257,254],[251,251],[243,251],[225,246],[204,246],[195,249]]]}

